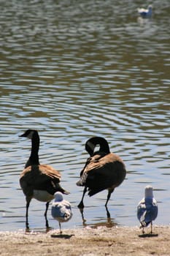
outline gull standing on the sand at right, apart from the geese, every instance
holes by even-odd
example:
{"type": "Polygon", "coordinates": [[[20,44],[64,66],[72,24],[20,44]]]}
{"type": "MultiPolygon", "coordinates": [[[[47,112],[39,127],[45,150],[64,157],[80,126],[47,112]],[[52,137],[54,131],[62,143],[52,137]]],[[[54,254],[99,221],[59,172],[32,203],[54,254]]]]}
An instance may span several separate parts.
{"type": "Polygon", "coordinates": [[[144,227],[150,224],[150,233],[152,234],[152,221],[156,219],[158,215],[158,205],[153,197],[152,186],[145,187],[144,194],[144,198],[137,206],[137,217],[141,224],[140,228],[142,228],[142,233],[144,233],[144,227]]]}

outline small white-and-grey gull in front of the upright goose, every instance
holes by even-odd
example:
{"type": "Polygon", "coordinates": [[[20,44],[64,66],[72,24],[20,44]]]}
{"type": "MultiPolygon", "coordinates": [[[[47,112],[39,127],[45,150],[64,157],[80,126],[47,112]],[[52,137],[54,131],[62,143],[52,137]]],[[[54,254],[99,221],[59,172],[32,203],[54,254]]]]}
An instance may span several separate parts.
{"type": "Polygon", "coordinates": [[[60,233],[61,222],[68,222],[72,218],[72,207],[71,204],[63,199],[63,194],[61,192],[55,192],[55,199],[52,203],[51,215],[54,219],[58,220],[60,233]]]}

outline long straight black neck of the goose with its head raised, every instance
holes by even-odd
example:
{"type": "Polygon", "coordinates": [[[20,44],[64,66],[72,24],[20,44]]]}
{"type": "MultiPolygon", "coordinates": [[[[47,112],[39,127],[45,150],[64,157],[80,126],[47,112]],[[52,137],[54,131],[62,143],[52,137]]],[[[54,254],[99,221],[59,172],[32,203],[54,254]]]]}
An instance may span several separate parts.
{"type": "Polygon", "coordinates": [[[36,131],[31,138],[31,154],[26,167],[29,165],[39,165],[39,135],[36,131]]]}

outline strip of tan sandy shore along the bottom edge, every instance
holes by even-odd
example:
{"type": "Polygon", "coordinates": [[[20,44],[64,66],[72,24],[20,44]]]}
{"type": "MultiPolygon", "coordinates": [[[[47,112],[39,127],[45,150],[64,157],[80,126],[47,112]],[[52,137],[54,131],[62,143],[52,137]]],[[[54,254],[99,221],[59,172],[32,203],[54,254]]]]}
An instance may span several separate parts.
{"type": "Polygon", "coordinates": [[[63,230],[62,235],[58,230],[0,232],[0,255],[170,255],[170,227],[154,226],[152,236],[141,234],[139,227],[88,227],[63,230]]]}

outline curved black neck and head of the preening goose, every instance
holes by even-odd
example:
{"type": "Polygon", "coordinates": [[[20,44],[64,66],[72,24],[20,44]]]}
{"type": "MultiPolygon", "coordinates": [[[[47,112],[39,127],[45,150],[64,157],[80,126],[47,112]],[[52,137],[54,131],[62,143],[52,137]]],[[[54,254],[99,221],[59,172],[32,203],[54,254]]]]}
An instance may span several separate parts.
{"type": "Polygon", "coordinates": [[[109,144],[107,143],[107,140],[105,140],[104,138],[101,138],[101,137],[93,137],[93,138],[90,138],[90,140],[88,140],[85,143],[85,150],[88,151],[88,154],[90,154],[90,157],[93,156],[94,149],[97,145],[100,146],[100,148],[99,148],[100,152],[104,152],[106,154],[110,153],[109,144]]]}

